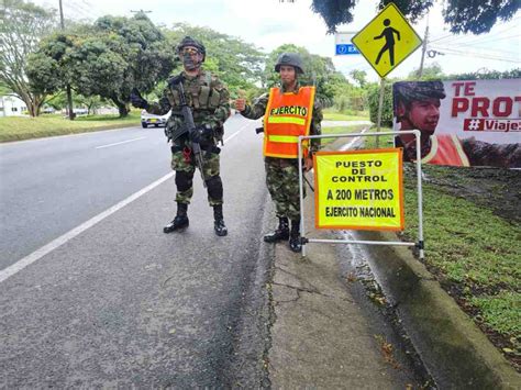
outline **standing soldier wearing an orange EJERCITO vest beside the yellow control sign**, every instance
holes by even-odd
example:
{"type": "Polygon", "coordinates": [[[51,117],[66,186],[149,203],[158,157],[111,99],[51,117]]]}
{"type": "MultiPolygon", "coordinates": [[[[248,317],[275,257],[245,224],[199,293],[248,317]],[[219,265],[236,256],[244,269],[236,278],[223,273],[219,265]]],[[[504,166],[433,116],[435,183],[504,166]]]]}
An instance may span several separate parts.
{"type": "MultiPolygon", "coordinates": [[[[278,227],[265,235],[264,241],[288,241],[291,250],[300,252],[298,135],[321,133],[322,110],[314,99],[314,87],[299,83],[299,75],[304,73],[299,54],[280,54],[275,71],[280,76],[280,87],[271,88],[269,93],[257,98],[252,105],[246,104],[244,99],[237,99],[235,108],[247,119],[264,116],[266,185],[278,218],[278,227]]],[[[313,165],[312,154],[320,147],[320,140],[303,146],[303,165],[309,170],[313,165]]]]}

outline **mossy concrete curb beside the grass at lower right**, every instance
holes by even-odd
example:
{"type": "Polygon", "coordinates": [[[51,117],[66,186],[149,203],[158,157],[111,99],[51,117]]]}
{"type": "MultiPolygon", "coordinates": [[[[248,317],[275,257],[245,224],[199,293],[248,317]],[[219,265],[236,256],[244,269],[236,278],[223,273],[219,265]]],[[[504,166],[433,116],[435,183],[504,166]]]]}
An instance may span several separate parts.
{"type": "MultiPolygon", "coordinates": [[[[397,241],[395,233],[361,232],[397,241]]],[[[441,388],[520,389],[521,376],[410,249],[368,246],[370,267],[441,388]]]]}

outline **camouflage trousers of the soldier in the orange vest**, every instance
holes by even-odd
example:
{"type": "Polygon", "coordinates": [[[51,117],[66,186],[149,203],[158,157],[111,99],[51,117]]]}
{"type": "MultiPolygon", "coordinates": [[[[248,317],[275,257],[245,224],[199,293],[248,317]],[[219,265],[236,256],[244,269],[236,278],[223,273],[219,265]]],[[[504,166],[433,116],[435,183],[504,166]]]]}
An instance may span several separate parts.
{"type": "MultiPolygon", "coordinates": [[[[278,218],[300,220],[299,166],[297,159],[266,157],[266,185],[278,218]]],[[[303,188],[306,197],[306,188],[303,188]]]]}

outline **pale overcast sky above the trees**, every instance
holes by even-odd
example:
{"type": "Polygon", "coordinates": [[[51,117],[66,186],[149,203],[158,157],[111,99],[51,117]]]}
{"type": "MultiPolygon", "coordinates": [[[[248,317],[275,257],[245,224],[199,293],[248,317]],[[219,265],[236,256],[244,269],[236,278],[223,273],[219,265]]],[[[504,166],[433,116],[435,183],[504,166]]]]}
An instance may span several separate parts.
{"type": "MultiPolygon", "coordinates": [[[[143,10],[156,24],[171,26],[177,22],[208,26],[239,37],[269,53],[281,44],[292,43],[310,53],[332,57],[335,68],[348,77],[354,69],[365,70],[370,81],[378,75],[363,56],[335,56],[335,36],[326,34],[319,14],[310,10],[311,0],[62,0],[65,18],[96,20],[104,14],[131,16],[143,10]]],[[[58,9],[59,0],[33,0],[58,9]]],[[[340,32],[357,32],[376,14],[377,0],[358,0],[354,21],[337,27],[340,32]]],[[[444,55],[426,56],[424,66],[437,63],[445,74],[485,70],[509,70],[521,67],[521,12],[509,22],[499,22],[487,34],[454,35],[443,23],[439,3],[429,18],[413,24],[423,37],[429,20],[428,51],[444,55]]],[[[211,53],[209,54],[211,55],[211,53]]],[[[417,49],[388,77],[404,77],[419,68],[421,48],[417,49]]]]}

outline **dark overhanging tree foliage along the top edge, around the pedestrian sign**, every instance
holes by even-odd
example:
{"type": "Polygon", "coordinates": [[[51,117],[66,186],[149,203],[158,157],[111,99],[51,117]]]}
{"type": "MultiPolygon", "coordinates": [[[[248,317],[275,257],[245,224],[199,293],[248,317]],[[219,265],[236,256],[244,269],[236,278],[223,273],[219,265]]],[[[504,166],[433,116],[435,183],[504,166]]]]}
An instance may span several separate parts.
{"type": "MultiPolygon", "coordinates": [[[[434,4],[434,0],[380,0],[379,8],[393,2],[400,11],[415,22],[434,4]]],[[[311,9],[325,22],[328,33],[353,21],[356,0],[313,0],[311,9]]],[[[519,0],[462,1],[445,0],[443,16],[452,33],[481,34],[489,32],[498,20],[508,21],[521,8],[519,0]]]]}

